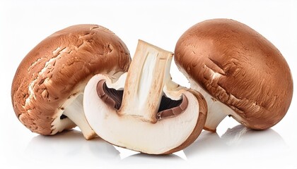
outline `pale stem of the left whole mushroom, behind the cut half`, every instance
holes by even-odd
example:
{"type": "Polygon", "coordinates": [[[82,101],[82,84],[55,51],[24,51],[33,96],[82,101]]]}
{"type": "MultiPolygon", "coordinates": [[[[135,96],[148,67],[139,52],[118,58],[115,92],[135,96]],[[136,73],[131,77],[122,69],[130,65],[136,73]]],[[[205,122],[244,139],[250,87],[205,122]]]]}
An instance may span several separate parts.
{"type": "Polygon", "coordinates": [[[63,112],[71,121],[73,121],[83,133],[83,137],[86,139],[92,139],[95,137],[95,132],[88,125],[86,116],[83,112],[83,94],[79,94],[76,99],[67,106],[63,112]]]}

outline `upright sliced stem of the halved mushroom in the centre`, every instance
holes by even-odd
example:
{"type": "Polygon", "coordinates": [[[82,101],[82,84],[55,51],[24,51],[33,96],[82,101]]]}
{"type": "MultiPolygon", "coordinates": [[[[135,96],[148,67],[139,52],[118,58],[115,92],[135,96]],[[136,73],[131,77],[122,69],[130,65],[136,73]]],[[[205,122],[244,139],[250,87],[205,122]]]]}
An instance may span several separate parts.
{"type": "Polygon", "coordinates": [[[170,80],[168,67],[173,53],[139,40],[134,59],[127,74],[120,115],[132,115],[156,123],[163,87],[170,80]],[[129,104],[131,103],[138,103],[129,104]]]}

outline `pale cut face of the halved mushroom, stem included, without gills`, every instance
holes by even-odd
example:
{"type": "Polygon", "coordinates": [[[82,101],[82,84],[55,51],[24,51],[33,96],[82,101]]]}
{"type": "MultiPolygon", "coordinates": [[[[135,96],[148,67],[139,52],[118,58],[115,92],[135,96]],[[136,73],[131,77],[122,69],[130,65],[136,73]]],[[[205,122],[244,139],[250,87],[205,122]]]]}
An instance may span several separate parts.
{"type": "MultiPolygon", "coordinates": [[[[139,42],[127,79],[112,84],[107,75],[95,75],[85,88],[83,108],[93,130],[107,142],[146,154],[163,154],[184,143],[197,125],[199,104],[190,92],[170,80],[173,54],[139,42]],[[100,80],[107,87],[124,84],[119,111],[107,106],[96,92],[100,80]],[[156,119],[162,96],[188,99],[186,110],[173,118],[156,119]]],[[[126,75],[124,75],[126,76],[126,75]]]]}

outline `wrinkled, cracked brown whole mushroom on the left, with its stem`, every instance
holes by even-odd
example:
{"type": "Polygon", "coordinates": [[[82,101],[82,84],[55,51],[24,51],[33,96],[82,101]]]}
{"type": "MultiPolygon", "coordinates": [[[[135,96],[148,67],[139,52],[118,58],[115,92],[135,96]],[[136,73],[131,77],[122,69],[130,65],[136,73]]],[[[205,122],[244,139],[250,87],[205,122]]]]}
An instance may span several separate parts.
{"type": "Polygon", "coordinates": [[[11,100],[18,119],[32,132],[52,135],[76,125],[95,136],[83,113],[83,89],[97,73],[118,77],[129,68],[127,46],[99,25],[59,30],[33,48],[16,70],[11,100]]]}

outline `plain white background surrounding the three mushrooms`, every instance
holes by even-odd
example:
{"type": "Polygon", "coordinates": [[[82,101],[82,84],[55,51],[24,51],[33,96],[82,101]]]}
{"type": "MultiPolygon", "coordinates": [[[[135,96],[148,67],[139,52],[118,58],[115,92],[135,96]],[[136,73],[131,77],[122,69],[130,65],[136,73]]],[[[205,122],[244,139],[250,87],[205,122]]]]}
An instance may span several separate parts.
{"type": "MultiPolygon", "coordinates": [[[[267,37],[296,80],[296,9],[296,1],[1,1],[0,168],[297,168],[296,92],[288,113],[272,129],[255,132],[226,118],[217,133],[204,131],[194,144],[170,156],[86,141],[78,130],[54,137],[32,133],[16,118],[10,95],[13,75],[28,51],[53,32],[81,23],[109,28],[133,56],[138,39],[174,51],[177,39],[195,23],[232,18],[267,37]]],[[[173,80],[189,86],[174,62],[171,73],[173,80]]]]}

